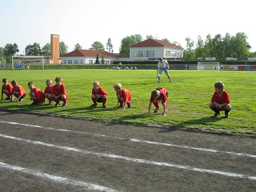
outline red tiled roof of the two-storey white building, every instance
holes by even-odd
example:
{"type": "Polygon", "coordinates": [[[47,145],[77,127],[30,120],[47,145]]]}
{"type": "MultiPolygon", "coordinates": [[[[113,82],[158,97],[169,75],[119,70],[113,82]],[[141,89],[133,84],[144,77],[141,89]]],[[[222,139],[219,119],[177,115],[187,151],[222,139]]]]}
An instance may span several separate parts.
{"type": "Polygon", "coordinates": [[[178,45],[168,43],[166,41],[162,41],[162,40],[158,40],[158,39],[147,39],[147,40],[142,41],[140,43],[131,45],[130,47],[163,47],[163,46],[183,49],[182,47],[180,47],[178,45]]]}

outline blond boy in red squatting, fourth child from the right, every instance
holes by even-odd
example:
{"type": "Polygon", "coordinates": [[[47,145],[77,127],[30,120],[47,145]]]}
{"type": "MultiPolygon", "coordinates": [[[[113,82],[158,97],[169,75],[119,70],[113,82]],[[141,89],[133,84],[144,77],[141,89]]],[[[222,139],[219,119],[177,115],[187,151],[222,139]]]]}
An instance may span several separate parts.
{"type": "Polygon", "coordinates": [[[97,107],[97,102],[98,102],[98,103],[103,103],[102,107],[106,108],[107,96],[108,96],[108,93],[100,87],[99,81],[94,81],[93,88],[92,88],[92,96],[91,96],[93,104],[90,107],[97,107]]]}

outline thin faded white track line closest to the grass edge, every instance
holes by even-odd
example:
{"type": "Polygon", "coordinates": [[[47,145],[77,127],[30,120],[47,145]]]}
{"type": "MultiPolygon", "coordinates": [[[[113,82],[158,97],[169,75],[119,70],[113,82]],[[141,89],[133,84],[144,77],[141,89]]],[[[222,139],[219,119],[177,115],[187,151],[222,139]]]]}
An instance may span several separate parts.
{"type": "Polygon", "coordinates": [[[22,123],[9,122],[9,121],[0,121],[0,122],[1,123],[7,123],[7,124],[17,124],[17,125],[23,125],[23,126],[29,126],[29,127],[36,127],[36,128],[42,128],[42,129],[50,129],[50,130],[55,130],[55,131],[81,133],[81,134],[93,135],[93,136],[97,136],[97,137],[106,137],[106,138],[130,140],[130,141],[134,141],[134,142],[138,142],[138,143],[148,143],[148,144],[153,144],[153,145],[164,145],[164,146],[169,146],[169,147],[186,148],[186,149],[193,149],[193,150],[198,150],[198,151],[207,151],[207,152],[212,152],[212,153],[223,153],[223,154],[248,156],[248,157],[256,158],[256,155],[245,154],[245,153],[236,153],[236,152],[232,152],[232,151],[220,151],[220,150],[214,150],[214,149],[189,147],[189,146],[185,146],[185,145],[175,145],[175,144],[154,142],[154,141],[147,141],[147,140],[138,140],[138,139],[131,139],[131,138],[123,138],[123,137],[112,137],[112,136],[101,135],[101,134],[96,134],[96,133],[72,131],[72,130],[68,130],[68,129],[54,129],[54,128],[51,128],[51,127],[43,127],[43,126],[39,126],[39,125],[22,124],[22,123]]]}

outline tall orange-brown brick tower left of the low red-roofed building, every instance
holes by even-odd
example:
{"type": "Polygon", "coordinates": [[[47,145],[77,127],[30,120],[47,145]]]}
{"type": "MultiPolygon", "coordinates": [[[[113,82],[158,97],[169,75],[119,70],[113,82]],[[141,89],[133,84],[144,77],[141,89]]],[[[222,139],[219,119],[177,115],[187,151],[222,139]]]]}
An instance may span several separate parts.
{"type": "Polygon", "coordinates": [[[51,34],[51,57],[53,64],[60,64],[60,35],[51,34]]]}

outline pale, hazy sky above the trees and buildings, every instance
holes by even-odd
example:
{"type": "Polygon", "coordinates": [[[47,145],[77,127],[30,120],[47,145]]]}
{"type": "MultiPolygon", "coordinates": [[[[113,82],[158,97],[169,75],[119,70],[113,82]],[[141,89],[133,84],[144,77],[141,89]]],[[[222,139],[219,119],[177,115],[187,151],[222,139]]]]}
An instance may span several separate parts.
{"type": "Polygon", "coordinates": [[[205,40],[207,34],[244,32],[255,52],[255,5],[249,0],[1,0],[0,47],[16,43],[23,54],[28,44],[42,47],[57,34],[68,52],[77,43],[89,49],[95,41],[107,50],[110,38],[118,53],[124,37],[140,34],[177,41],[186,49],[186,37],[196,46],[199,35],[205,40]]]}

